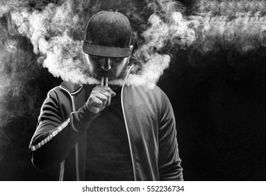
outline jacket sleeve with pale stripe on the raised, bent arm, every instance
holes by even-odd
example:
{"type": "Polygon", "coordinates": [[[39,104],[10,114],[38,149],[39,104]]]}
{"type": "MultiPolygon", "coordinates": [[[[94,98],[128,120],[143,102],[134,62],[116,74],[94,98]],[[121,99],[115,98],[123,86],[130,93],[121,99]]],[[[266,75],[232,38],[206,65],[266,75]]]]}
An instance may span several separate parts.
{"type": "Polygon", "coordinates": [[[91,121],[98,116],[84,106],[69,114],[69,118],[63,121],[57,97],[54,91],[48,93],[29,146],[31,161],[41,170],[63,162],[91,121]]]}

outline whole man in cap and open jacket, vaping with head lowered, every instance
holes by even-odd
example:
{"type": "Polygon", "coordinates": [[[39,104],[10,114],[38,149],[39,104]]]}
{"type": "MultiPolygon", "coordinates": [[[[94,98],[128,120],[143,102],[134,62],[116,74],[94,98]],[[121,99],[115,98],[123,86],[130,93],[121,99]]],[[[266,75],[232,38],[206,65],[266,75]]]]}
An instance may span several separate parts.
{"type": "Polygon", "coordinates": [[[35,167],[60,164],[59,180],[183,180],[167,96],[127,82],[134,77],[128,19],[101,11],[84,37],[90,75],[102,84],[64,81],[49,91],[29,146],[35,167]]]}

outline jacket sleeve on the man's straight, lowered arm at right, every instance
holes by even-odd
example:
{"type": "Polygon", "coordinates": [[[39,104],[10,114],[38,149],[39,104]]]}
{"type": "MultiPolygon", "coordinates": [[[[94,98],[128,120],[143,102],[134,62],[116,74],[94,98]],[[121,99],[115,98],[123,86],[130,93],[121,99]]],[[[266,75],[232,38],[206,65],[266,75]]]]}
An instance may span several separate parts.
{"type": "Polygon", "coordinates": [[[160,180],[183,180],[183,169],[178,153],[176,122],[172,105],[162,92],[159,123],[159,174],[160,180]]]}

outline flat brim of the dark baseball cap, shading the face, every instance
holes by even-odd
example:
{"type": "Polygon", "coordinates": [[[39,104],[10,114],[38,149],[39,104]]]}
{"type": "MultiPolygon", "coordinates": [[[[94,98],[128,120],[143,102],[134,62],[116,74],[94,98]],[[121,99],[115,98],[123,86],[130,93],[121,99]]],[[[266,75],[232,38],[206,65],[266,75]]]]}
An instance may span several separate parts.
{"type": "Polygon", "coordinates": [[[111,58],[125,58],[131,55],[131,49],[121,47],[107,47],[84,42],[83,52],[94,56],[105,56],[111,58]]]}

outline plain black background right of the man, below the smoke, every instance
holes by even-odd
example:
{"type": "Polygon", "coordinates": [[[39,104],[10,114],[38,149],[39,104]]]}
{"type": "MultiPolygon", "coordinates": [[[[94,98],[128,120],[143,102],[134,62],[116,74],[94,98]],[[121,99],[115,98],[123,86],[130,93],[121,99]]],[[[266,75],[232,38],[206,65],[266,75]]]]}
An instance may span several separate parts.
{"type": "Polygon", "coordinates": [[[235,56],[238,62],[229,64],[224,54],[194,68],[181,60],[160,81],[176,115],[185,180],[266,179],[266,68],[261,56],[235,56]]]}

